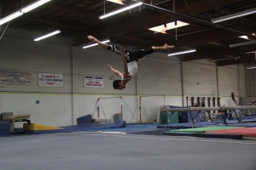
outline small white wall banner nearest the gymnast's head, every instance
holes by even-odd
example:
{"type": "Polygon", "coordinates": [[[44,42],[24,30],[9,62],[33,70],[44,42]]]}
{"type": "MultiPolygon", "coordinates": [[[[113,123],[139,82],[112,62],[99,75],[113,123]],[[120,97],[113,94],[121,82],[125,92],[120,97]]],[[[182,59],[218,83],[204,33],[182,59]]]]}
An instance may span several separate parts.
{"type": "Polygon", "coordinates": [[[104,78],[84,76],[84,88],[104,88],[104,78]]]}

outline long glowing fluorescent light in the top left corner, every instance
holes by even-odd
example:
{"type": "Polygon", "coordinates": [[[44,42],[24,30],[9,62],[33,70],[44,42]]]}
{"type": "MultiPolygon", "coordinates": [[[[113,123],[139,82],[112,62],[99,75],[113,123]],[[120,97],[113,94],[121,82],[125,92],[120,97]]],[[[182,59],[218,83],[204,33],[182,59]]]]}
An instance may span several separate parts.
{"type": "Polygon", "coordinates": [[[32,3],[30,5],[27,5],[24,8],[21,8],[20,10],[16,11],[13,14],[9,14],[8,16],[4,17],[0,20],[0,26],[3,25],[6,22],[9,22],[10,20],[14,20],[15,18],[19,17],[20,15],[27,13],[31,11],[34,8],[38,8],[40,5],[43,5],[44,3],[49,2],[50,0],[39,0],[36,3],[32,3]]]}

